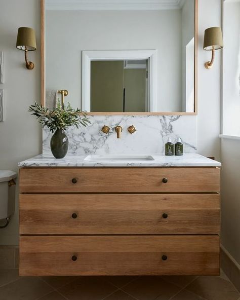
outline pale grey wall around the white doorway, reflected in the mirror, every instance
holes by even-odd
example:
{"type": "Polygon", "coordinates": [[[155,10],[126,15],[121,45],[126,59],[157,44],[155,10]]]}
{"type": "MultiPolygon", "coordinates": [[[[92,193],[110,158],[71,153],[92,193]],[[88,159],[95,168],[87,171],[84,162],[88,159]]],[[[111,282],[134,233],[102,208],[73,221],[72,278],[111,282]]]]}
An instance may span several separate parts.
{"type": "Polygon", "coordinates": [[[46,28],[46,88],[68,89],[74,107],[82,98],[82,50],[155,49],[158,111],[182,111],[181,10],[47,11],[46,28]]]}

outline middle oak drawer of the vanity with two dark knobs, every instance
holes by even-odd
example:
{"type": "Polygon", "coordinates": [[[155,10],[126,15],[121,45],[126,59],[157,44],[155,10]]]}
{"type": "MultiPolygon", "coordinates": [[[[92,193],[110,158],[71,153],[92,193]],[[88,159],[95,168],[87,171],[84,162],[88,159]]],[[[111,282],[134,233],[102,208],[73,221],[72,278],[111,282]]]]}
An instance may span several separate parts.
{"type": "Polygon", "coordinates": [[[20,234],[218,234],[219,194],[20,195],[20,234]]]}

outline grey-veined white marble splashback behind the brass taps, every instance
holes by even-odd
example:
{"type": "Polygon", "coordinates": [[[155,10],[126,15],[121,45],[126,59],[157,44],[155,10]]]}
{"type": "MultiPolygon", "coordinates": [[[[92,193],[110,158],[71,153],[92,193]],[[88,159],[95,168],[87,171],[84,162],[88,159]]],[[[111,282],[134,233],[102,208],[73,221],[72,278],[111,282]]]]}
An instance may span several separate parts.
{"type": "MultiPolygon", "coordinates": [[[[164,153],[168,137],[174,142],[182,139],[185,153],[196,152],[195,116],[91,116],[88,127],[66,130],[69,140],[68,154],[123,154],[164,153]],[[130,134],[127,128],[134,125],[137,131],[130,134]],[[108,134],[101,131],[107,125],[108,134]],[[114,128],[123,127],[122,138],[116,138],[114,128]]],[[[50,154],[52,133],[43,130],[43,154],[50,154]]]]}

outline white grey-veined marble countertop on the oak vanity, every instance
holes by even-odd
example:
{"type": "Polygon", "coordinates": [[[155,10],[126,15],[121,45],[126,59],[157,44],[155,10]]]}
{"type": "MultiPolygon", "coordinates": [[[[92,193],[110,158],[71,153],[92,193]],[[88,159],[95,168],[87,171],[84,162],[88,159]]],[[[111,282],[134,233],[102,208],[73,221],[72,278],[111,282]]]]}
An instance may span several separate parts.
{"type": "Polygon", "coordinates": [[[154,160],[119,161],[109,159],[105,161],[85,160],[87,155],[69,154],[63,159],[56,159],[52,155],[37,155],[22,161],[19,167],[220,167],[221,163],[195,153],[185,153],[183,156],[165,156],[163,154],[150,155],[154,160]]]}

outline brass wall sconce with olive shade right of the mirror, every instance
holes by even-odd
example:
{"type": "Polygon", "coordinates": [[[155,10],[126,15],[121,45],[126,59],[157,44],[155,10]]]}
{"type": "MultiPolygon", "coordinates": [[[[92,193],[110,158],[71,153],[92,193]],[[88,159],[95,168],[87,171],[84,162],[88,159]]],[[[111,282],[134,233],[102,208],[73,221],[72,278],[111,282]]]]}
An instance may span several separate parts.
{"type": "Polygon", "coordinates": [[[204,33],[204,50],[212,51],[212,59],[205,63],[206,69],[211,69],[215,58],[215,50],[223,48],[222,30],[220,27],[210,27],[204,33]]]}

